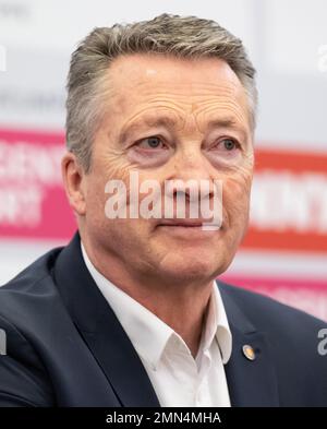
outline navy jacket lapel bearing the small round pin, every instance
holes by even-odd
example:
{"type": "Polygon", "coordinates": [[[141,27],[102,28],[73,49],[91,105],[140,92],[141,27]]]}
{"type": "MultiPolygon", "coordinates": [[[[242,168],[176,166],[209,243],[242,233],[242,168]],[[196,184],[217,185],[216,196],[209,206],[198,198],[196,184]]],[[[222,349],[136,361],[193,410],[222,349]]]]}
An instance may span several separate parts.
{"type": "Polygon", "coordinates": [[[218,283],[232,333],[232,355],[225,366],[231,406],[279,406],[277,377],[269,342],[243,314],[228,285],[218,283]],[[250,345],[255,359],[250,360],[243,346],[250,345]]]}

